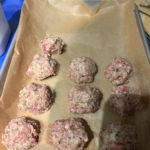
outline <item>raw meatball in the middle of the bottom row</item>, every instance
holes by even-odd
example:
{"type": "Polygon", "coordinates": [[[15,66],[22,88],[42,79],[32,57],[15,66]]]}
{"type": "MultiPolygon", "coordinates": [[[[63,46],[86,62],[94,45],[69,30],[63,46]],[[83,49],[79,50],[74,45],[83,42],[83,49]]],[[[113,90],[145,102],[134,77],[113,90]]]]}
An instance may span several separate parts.
{"type": "Polygon", "coordinates": [[[51,128],[50,141],[57,150],[83,150],[88,135],[79,118],[56,120],[51,128]]]}

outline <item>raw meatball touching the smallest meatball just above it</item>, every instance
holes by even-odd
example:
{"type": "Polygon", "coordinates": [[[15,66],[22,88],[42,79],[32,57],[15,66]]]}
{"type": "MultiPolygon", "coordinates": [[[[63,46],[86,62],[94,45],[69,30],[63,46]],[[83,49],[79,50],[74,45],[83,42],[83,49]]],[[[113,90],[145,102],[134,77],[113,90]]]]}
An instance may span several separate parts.
{"type": "Polygon", "coordinates": [[[56,75],[56,60],[48,55],[36,54],[29,66],[26,75],[35,80],[43,80],[49,76],[56,75]]]}

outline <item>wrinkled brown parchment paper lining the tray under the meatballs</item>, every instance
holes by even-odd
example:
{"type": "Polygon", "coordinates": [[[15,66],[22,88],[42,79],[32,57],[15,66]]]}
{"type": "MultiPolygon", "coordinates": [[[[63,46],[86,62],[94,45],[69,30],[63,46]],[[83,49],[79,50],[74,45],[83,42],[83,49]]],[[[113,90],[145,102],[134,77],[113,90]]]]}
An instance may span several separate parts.
{"type": "MultiPolygon", "coordinates": [[[[56,119],[70,116],[84,118],[94,138],[87,150],[101,150],[99,133],[115,120],[126,120],[136,125],[138,150],[150,149],[150,65],[137,27],[132,0],[102,1],[90,10],[79,0],[26,0],[21,14],[15,52],[9,68],[0,103],[0,136],[7,123],[17,116],[29,116],[41,123],[39,143],[34,150],[52,150],[48,141],[50,125],[56,119]],[[54,55],[60,68],[58,75],[43,80],[56,91],[55,103],[43,115],[17,109],[19,91],[31,83],[25,72],[36,53],[42,53],[39,42],[46,34],[56,34],[66,43],[62,55],[54,55]],[[67,92],[75,86],[68,78],[71,60],[79,56],[92,58],[98,66],[91,84],[103,93],[101,108],[94,114],[73,115],[69,112],[67,92]],[[116,56],[127,58],[135,69],[128,85],[141,90],[145,108],[133,117],[120,118],[107,104],[112,84],[104,78],[104,68],[116,56]]],[[[37,82],[37,81],[35,81],[37,82]]],[[[6,148],[0,143],[0,150],[6,148]]]]}

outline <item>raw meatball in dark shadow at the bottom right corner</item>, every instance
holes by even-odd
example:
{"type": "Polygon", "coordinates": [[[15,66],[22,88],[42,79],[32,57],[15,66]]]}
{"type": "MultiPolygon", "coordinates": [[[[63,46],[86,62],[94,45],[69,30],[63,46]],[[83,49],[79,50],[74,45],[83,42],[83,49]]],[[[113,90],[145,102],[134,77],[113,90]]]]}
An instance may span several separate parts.
{"type": "Polygon", "coordinates": [[[102,150],[135,150],[135,128],[122,122],[113,122],[102,132],[102,150]]]}

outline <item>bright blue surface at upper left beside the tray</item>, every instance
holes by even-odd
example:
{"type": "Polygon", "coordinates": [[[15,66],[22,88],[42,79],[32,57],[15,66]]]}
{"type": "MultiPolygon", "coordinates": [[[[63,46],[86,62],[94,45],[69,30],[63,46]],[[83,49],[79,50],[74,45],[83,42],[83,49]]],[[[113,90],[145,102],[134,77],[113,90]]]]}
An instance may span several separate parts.
{"type": "Polygon", "coordinates": [[[23,1],[24,0],[0,0],[0,3],[2,4],[2,8],[4,10],[5,16],[8,20],[8,23],[11,29],[11,35],[10,35],[5,53],[2,56],[0,56],[0,69],[2,68],[9,46],[14,37],[14,33],[17,29],[23,1]]]}

